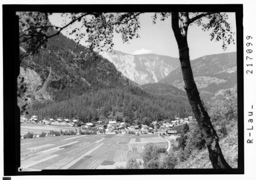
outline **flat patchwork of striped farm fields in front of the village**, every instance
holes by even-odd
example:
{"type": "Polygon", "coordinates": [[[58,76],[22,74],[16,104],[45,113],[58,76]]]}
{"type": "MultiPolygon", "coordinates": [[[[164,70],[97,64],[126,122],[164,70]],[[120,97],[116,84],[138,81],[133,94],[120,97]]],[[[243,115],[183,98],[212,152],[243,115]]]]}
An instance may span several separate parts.
{"type": "Polygon", "coordinates": [[[156,134],[97,134],[21,139],[21,167],[43,169],[115,169],[129,158],[141,159],[144,146],[167,148],[156,134]]]}

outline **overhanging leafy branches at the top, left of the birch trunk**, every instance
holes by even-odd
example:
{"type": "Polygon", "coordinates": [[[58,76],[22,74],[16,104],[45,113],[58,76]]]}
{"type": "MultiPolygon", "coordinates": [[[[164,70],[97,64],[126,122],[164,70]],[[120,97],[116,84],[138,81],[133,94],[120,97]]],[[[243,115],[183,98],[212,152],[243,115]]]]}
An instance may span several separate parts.
{"type": "Polygon", "coordinates": [[[73,28],[69,35],[74,35],[74,40],[79,44],[82,39],[88,48],[99,50],[103,47],[112,50],[113,33],[121,33],[123,42],[128,42],[134,37],[139,37],[137,30],[140,28],[140,13],[62,13],[69,21],[64,21],[62,27],[49,23],[48,16],[52,13],[18,12],[20,45],[25,47],[20,59],[33,55],[38,49],[45,47],[48,39],[60,34],[61,31],[76,22],[79,27],[73,28]],[[49,33],[49,29],[55,29],[49,33]],[[82,30],[82,31],[81,31],[82,30]]]}

